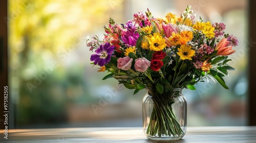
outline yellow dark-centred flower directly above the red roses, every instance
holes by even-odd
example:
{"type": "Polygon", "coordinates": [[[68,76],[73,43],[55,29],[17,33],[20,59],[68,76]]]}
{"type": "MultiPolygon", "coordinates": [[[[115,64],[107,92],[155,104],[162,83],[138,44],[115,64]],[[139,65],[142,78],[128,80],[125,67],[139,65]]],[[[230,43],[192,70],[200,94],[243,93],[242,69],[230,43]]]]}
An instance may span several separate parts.
{"type": "Polygon", "coordinates": [[[148,41],[150,43],[150,50],[152,51],[161,51],[166,47],[165,39],[160,33],[154,33],[153,36],[150,35],[148,41]]]}

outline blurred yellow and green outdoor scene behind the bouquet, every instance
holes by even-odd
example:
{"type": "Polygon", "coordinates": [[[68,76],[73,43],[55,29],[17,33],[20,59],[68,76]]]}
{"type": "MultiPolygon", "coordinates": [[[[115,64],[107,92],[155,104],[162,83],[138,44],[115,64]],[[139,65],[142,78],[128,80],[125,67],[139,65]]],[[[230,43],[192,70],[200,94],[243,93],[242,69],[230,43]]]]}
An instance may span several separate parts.
{"type": "Polygon", "coordinates": [[[230,56],[225,78],[230,90],[214,82],[184,89],[188,126],[247,125],[248,17],[246,0],[10,0],[8,52],[10,128],[142,127],[142,98],[146,90],[101,80],[90,63],[86,37],[103,38],[103,26],[112,17],[125,24],[137,12],[150,8],[154,17],[182,13],[191,5],[196,18],[224,22],[226,33],[239,46],[230,56]]]}

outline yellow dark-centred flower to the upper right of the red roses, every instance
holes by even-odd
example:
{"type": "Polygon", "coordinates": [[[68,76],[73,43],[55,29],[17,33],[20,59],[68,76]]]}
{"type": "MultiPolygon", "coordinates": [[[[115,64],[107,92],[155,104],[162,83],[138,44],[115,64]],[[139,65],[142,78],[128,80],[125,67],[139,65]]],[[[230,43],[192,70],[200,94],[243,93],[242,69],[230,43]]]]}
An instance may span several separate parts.
{"type": "Polygon", "coordinates": [[[192,60],[191,57],[194,56],[195,51],[191,50],[191,46],[187,46],[187,45],[181,45],[180,48],[178,48],[177,54],[180,56],[180,59],[185,60],[192,60]]]}

